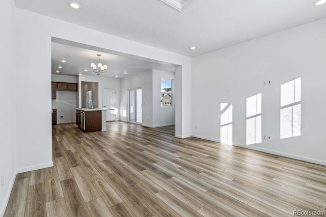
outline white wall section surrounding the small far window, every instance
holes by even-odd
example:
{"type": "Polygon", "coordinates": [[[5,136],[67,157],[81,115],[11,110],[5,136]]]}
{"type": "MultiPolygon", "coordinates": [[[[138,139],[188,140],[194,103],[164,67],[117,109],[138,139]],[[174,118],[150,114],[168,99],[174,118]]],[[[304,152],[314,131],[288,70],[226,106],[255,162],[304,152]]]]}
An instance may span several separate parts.
{"type": "Polygon", "coordinates": [[[173,125],[175,123],[175,73],[153,70],[153,127],[173,125]],[[172,79],[172,107],[161,108],[161,78],[172,79]]]}

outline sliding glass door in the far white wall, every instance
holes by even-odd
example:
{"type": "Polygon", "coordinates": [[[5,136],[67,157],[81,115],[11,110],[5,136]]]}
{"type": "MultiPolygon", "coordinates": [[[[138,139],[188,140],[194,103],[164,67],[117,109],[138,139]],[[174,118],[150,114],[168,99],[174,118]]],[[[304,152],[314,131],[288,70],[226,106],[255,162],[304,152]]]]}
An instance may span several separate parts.
{"type": "Polygon", "coordinates": [[[142,89],[128,90],[129,118],[131,122],[142,123],[142,89]]]}

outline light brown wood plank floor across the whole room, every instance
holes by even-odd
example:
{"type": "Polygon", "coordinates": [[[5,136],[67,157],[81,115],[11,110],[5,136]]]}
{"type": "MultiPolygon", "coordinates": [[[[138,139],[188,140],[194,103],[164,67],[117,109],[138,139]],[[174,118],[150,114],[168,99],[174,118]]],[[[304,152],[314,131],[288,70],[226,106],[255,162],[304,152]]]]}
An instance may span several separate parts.
{"type": "MultiPolygon", "coordinates": [[[[326,212],[326,167],[107,122],[52,128],[51,168],[17,175],[5,216],[290,216],[326,212]]],[[[307,144],[308,145],[308,144],[307,144]]]]}

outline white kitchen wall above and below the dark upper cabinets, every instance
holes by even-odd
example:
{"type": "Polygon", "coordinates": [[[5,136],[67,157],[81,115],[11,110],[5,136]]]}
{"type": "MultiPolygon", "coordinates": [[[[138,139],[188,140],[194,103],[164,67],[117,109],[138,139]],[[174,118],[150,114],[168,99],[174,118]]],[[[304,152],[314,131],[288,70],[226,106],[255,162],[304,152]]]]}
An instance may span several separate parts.
{"type": "MultiPolygon", "coordinates": [[[[69,75],[51,74],[51,80],[53,82],[78,83],[77,76],[69,75]]],[[[57,99],[52,100],[52,107],[57,108],[57,123],[76,121],[77,95],[76,91],[57,91],[57,99]]]]}

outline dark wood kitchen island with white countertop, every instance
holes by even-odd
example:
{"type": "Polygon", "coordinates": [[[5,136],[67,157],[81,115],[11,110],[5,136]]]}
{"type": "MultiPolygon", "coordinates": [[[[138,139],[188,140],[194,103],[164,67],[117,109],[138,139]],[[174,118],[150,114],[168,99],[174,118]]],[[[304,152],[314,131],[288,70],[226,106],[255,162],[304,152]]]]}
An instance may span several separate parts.
{"type": "Polygon", "coordinates": [[[76,108],[76,125],[84,132],[106,131],[106,108],[76,108]]]}

